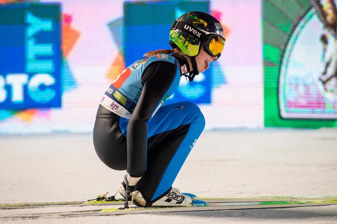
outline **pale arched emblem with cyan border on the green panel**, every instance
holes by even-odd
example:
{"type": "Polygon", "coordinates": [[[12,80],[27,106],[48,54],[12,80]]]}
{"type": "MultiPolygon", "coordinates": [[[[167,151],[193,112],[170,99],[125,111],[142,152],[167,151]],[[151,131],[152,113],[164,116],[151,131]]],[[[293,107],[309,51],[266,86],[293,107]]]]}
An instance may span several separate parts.
{"type": "Polygon", "coordinates": [[[323,24],[311,9],[295,28],[283,55],[279,89],[283,118],[337,119],[336,62],[332,61],[336,40],[330,36],[327,44],[321,43],[322,35],[323,24]],[[324,76],[331,79],[324,82],[324,76]]]}

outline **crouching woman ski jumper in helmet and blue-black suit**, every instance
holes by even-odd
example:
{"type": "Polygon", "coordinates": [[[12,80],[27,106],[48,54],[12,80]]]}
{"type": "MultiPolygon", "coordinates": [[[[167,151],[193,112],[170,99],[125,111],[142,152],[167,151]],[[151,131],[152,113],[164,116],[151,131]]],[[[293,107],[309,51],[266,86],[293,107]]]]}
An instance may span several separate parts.
{"type": "Polygon", "coordinates": [[[105,92],[96,116],[94,146],[113,170],[126,170],[119,193],[138,206],[186,206],[190,196],[172,183],[205,127],[191,102],[164,105],[181,76],[190,81],[224,48],[220,22],[188,12],[172,25],[172,50],[155,50],[128,66],[105,92]]]}

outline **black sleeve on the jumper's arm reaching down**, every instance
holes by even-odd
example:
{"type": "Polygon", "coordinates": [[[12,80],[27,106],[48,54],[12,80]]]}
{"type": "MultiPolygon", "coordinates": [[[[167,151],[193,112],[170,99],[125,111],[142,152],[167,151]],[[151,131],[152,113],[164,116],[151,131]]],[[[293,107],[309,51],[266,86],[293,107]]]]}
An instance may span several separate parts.
{"type": "Polygon", "coordinates": [[[167,61],[152,62],[143,72],[143,90],[127,125],[127,172],[142,177],[146,171],[147,121],[171,86],[176,65],[167,61]]]}

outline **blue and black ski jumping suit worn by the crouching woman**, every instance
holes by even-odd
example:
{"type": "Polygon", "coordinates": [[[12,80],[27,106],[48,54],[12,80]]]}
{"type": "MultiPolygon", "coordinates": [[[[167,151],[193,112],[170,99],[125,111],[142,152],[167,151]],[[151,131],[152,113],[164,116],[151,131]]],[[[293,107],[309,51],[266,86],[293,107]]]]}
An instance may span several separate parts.
{"type": "Polygon", "coordinates": [[[149,206],[169,192],[205,127],[194,103],[162,106],[177,89],[180,66],[186,71],[186,64],[170,54],[135,61],[105,92],[97,112],[98,157],[114,170],[142,177],[135,189],[149,206]]]}

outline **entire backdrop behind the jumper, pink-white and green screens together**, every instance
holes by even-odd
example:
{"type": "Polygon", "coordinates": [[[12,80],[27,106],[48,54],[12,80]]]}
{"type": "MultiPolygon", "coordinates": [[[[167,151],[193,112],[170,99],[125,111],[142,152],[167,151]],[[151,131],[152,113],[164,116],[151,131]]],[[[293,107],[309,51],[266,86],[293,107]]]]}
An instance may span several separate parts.
{"type": "Polygon", "coordinates": [[[170,49],[171,24],[192,10],[221,21],[225,49],[167,103],[197,103],[208,130],[336,127],[330,3],[0,0],[0,134],[92,132],[110,83],[145,52],[170,49]]]}

